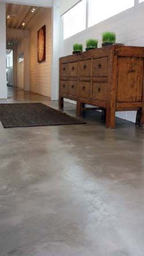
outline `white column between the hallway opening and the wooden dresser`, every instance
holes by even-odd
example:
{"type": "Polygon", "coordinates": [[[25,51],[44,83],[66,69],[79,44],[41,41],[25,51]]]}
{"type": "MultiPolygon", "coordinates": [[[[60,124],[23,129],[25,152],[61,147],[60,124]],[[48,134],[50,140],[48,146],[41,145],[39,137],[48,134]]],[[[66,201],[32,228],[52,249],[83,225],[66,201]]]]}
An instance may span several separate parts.
{"type": "Polygon", "coordinates": [[[59,98],[59,56],[60,56],[60,5],[54,1],[52,8],[52,65],[51,100],[59,98]],[[57,4],[56,4],[57,3],[57,4]]]}

